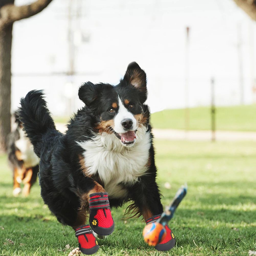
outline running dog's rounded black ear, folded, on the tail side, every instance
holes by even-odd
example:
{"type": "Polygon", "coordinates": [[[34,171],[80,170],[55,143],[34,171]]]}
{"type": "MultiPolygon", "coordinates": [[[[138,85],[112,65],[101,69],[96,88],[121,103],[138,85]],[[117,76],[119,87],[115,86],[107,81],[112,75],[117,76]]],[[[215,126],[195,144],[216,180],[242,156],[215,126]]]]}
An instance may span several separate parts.
{"type": "Polygon", "coordinates": [[[95,84],[91,82],[83,83],[79,88],[78,97],[84,104],[90,105],[97,98],[95,84]]]}

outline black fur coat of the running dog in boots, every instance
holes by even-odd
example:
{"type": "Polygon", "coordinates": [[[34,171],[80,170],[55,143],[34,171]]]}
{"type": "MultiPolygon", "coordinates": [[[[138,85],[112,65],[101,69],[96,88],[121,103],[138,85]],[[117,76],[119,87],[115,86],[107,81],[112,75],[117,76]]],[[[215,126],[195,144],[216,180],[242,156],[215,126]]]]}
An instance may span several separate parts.
{"type": "MultiPolygon", "coordinates": [[[[133,62],[128,66],[124,79],[117,86],[91,82],[83,84],[79,89],[79,98],[85,106],[70,120],[65,135],[56,130],[42,91],[30,91],[21,99],[19,118],[24,123],[35,153],[40,157],[41,196],[57,219],[73,228],[84,224],[76,222],[79,211],[83,210],[86,214],[89,210],[87,202],[83,201],[83,195],[95,187],[95,181],[104,188],[104,182],[99,175],[87,176],[83,172],[81,155],[84,149],[76,142],[91,140],[95,133],[102,131],[102,122],[114,118],[115,114],[108,109],[117,99],[117,95],[120,99],[129,99],[134,104],[133,109],[129,109],[131,105],[127,109],[133,115],[141,115],[143,118],[142,125],[150,133],[151,146],[145,175],[132,185],[122,183],[128,191],[127,196],[118,199],[109,196],[110,207],[119,207],[131,200],[133,204],[129,210],[135,215],[142,214],[144,218],[158,215],[163,212],[163,207],[155,181],[150,112],[144,104],[147,98],[146,74],[137,63],[133,62]],[[133,81],[137,82],[136,87],[132,84],[133,81]]],[[[109,129],[108,132],[111,134],[114,131],[109,129]]],[[[81,220],[83,221],[85,220],[81,220]]]]}

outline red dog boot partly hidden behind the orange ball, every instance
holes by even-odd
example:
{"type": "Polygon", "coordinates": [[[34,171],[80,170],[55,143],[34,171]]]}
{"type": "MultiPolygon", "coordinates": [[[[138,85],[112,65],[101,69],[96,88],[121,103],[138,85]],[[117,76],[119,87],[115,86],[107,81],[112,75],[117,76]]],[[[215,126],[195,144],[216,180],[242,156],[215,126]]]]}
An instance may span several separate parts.
{"type": "MultiPolygon", "coordinates": [[[[161,214],[152,216],[151,218],[146,220],[146,224],[156,221],[157,219],[160,218],[160,216],[161,214]]],[[[172,249],[175,245],[176,240],[175,240],[174,234],[172,230],[170,230],[167,224],[165,225],[165,230],[166,230],[166,237],[164,241],[155,246],[157,251],[168,251],[172,249]]]]}

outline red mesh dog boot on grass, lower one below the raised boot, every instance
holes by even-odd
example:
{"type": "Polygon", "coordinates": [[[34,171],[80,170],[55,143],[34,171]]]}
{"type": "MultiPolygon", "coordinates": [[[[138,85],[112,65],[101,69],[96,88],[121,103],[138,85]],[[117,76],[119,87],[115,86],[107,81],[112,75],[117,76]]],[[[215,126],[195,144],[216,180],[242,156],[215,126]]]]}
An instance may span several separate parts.
{"type": "Polygon", "coordinates": [[[82,225],[76,229],[79,249],[83,254],[93,254],[98,251],[99,245],[90,229],[90,225],[82,225]]]}

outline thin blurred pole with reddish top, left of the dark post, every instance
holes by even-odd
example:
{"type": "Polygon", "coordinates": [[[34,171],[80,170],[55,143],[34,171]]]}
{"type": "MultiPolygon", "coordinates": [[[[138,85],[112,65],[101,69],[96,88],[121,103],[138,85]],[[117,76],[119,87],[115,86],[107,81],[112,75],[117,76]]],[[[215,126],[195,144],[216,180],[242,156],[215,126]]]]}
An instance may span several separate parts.
{"type": "Polygon", "coordinates": [[[186,27],[185,46],[185,131],[189,130],[189,27],[186,27]]]}

